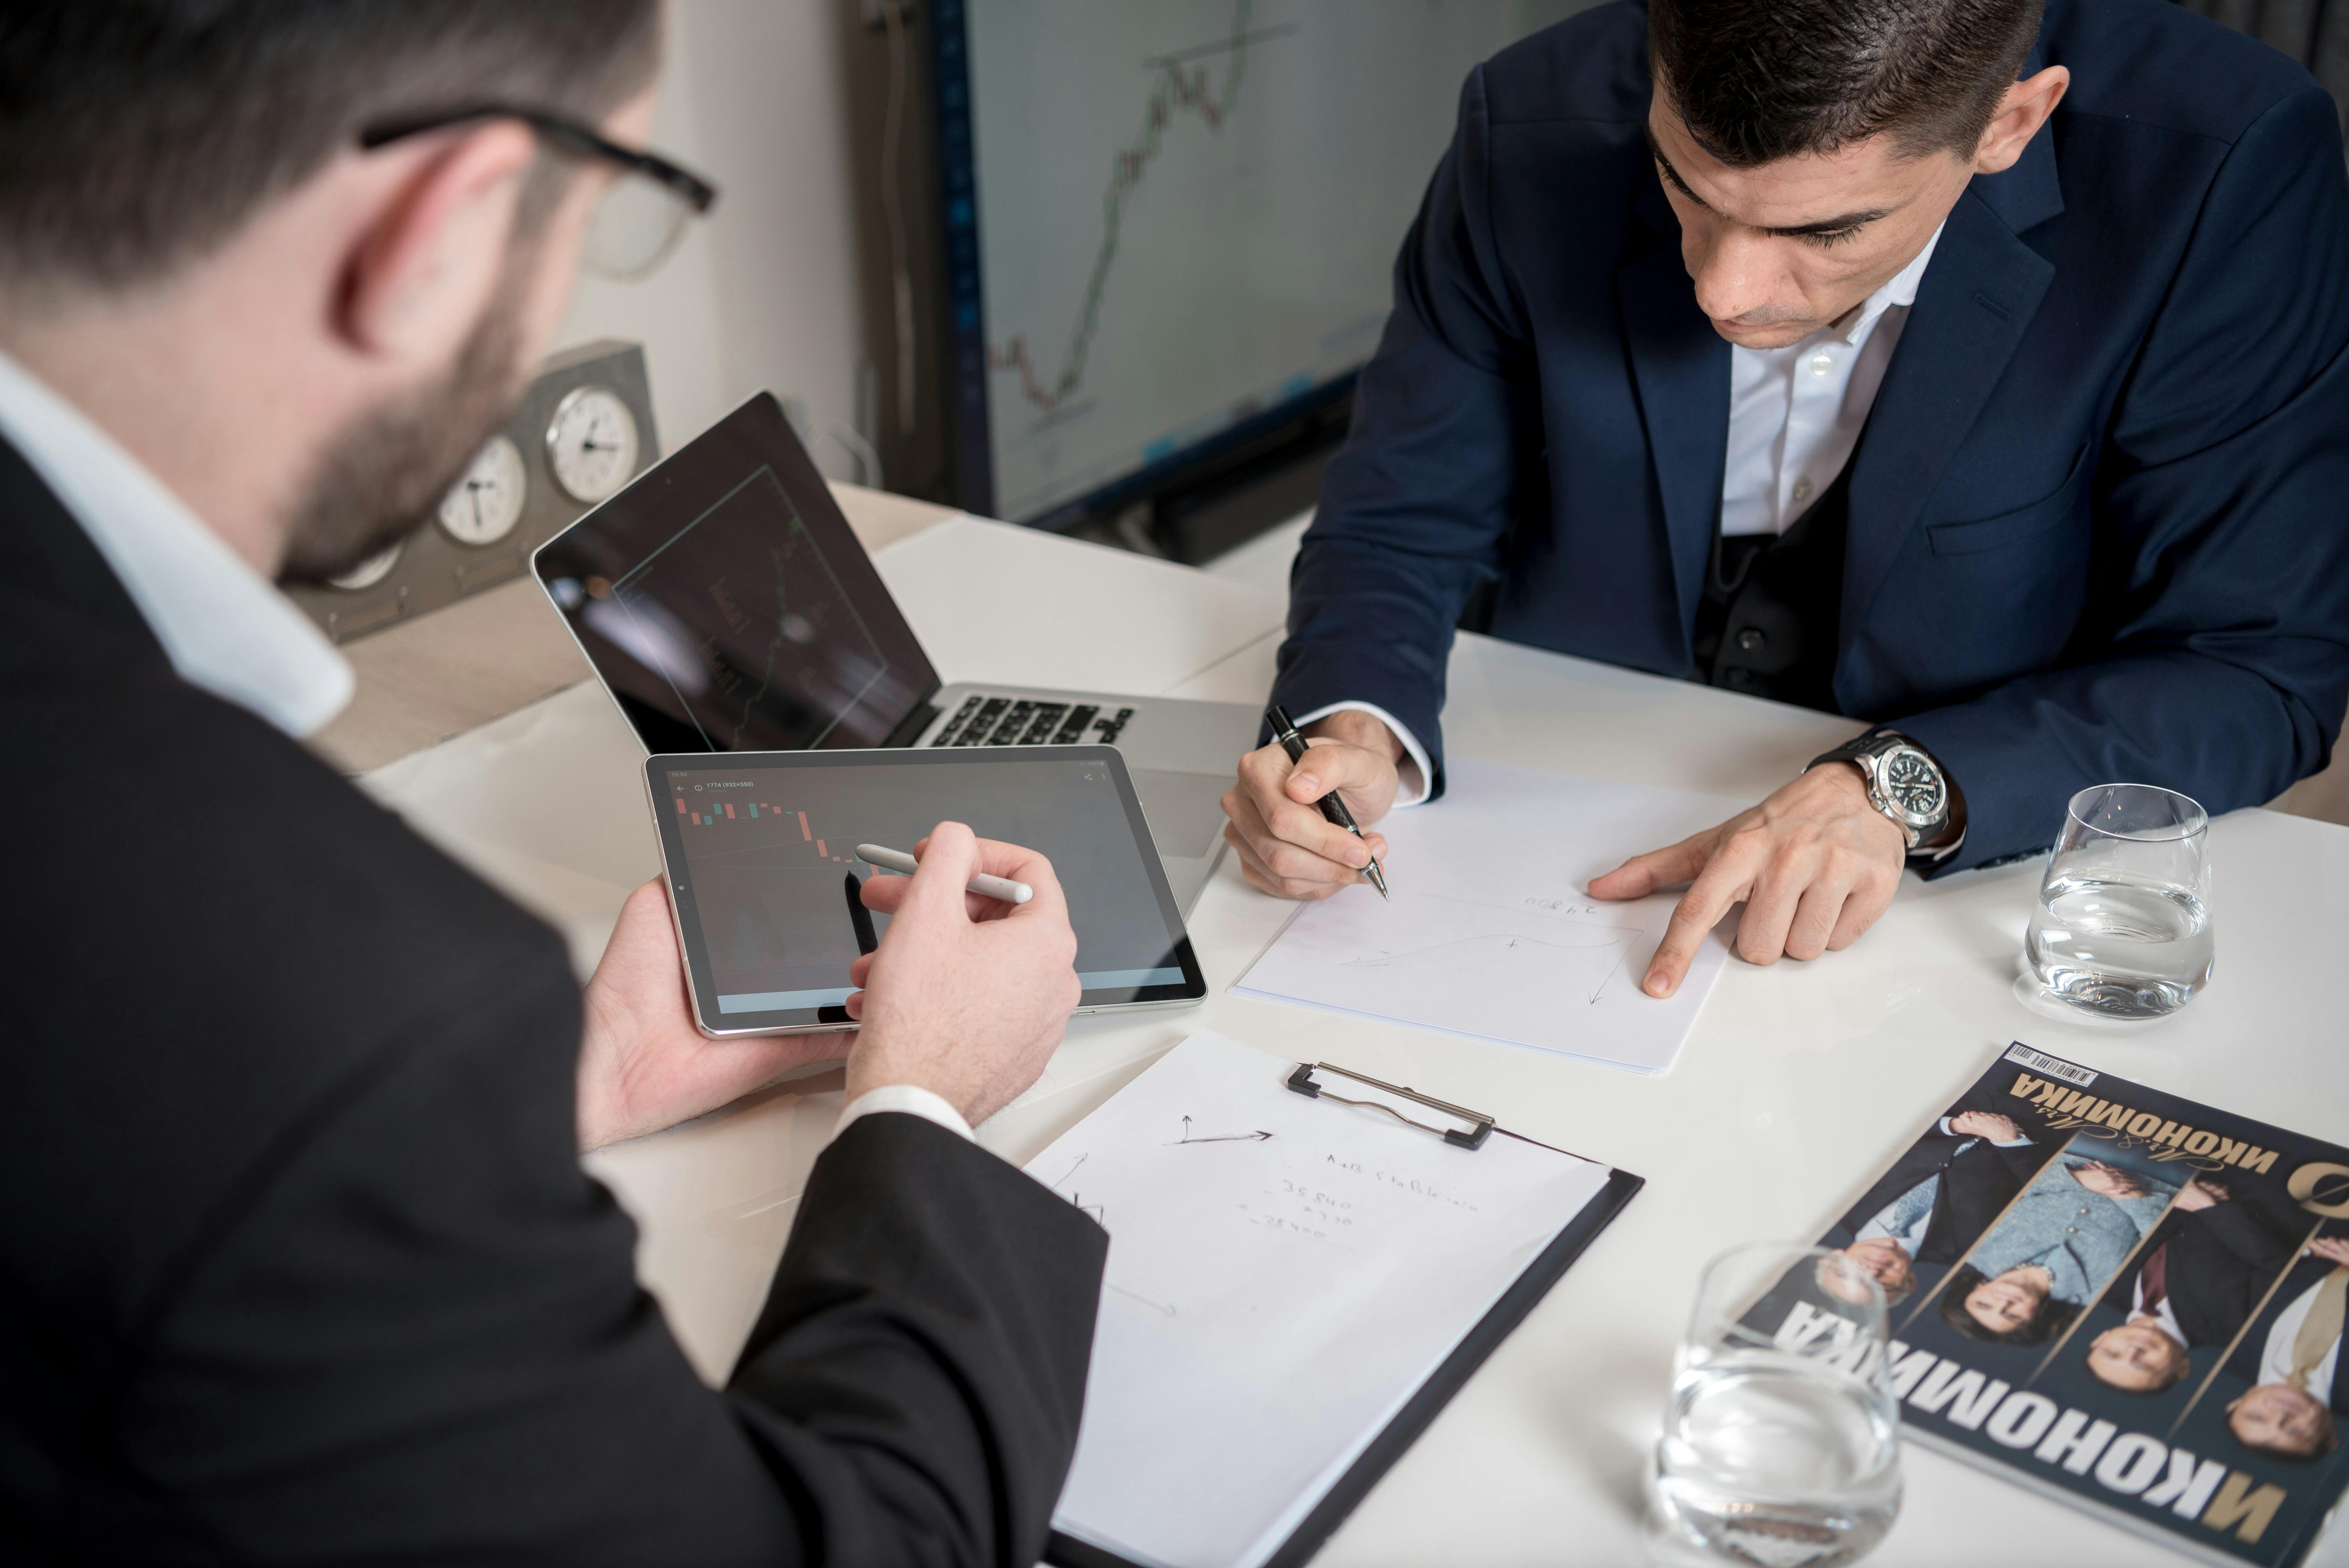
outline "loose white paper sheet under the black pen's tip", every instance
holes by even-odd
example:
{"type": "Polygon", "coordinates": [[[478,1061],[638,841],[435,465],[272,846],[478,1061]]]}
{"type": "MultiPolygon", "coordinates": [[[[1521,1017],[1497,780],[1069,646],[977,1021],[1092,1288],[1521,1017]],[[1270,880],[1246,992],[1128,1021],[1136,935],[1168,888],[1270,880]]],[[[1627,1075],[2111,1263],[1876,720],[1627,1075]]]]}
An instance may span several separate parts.
{"type": "Polygon", "coordinates": [[[1736,918],[1658,1002],[1640,979],[1680,894],[1602,904],[1583,887],[1736,812],[1677,789],[1454,761],[1442,800],[1379,824],[1393,901],[1348,887],[1301,906],[1236,991],[1661,1073],[1736,918]]]}

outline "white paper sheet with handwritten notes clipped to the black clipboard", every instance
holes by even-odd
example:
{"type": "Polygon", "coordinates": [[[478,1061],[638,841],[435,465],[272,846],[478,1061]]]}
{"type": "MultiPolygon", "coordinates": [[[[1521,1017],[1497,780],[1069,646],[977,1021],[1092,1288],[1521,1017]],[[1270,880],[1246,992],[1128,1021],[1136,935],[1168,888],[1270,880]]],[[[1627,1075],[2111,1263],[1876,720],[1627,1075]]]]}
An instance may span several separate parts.
{"type": "Polygon", "coordinates": [[[1261,1563],[1607,1183],[1292,1066],[1200,1030],[1027,1167],[1111,1237],[1052,1523],[1137,1563],[1261,1563]]]}

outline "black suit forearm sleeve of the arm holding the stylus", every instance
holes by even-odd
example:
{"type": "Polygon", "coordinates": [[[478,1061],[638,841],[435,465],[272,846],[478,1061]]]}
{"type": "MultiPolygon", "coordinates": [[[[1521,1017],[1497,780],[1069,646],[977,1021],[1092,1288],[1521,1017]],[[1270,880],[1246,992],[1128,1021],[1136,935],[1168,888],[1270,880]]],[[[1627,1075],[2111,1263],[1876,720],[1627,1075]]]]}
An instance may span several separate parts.
{"type": "Polygon", "coordinates": [[[808,1561],[1043,1556],[1106,1253],[1099,1225],[933,1122],[841,1134],[731,1385],[778,1474],[817,1493],[808,1561]]]}

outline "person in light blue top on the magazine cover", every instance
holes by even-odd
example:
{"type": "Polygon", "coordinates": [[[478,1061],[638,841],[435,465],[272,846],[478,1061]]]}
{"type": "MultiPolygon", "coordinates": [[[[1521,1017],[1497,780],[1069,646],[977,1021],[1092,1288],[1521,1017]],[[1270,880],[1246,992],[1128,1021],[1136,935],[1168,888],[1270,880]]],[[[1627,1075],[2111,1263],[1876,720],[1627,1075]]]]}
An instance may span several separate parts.
{"type": "Polygon", "coordinates": [[[2062,1155],[1950,1277],[1943,1319],[1976,1340],[2044,1345],[2121,1270],[2173,1192],[2086,1153],[2062,1155]]]}

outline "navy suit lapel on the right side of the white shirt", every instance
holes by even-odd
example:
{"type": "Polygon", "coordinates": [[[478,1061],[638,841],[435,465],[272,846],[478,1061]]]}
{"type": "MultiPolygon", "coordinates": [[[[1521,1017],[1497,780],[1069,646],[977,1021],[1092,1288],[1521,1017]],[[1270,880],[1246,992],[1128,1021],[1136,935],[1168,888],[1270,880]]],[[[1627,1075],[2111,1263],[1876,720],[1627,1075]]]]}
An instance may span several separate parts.
{"type": "Polygon", "coordinates": [[[2053,129],[2006,174],[1966,185],[1917,286],[1851,462],[1839,660],[2055,279],[2055,263],[2020,239],[2062,211],[2053,129]]]}

